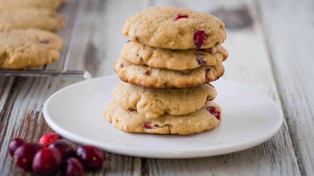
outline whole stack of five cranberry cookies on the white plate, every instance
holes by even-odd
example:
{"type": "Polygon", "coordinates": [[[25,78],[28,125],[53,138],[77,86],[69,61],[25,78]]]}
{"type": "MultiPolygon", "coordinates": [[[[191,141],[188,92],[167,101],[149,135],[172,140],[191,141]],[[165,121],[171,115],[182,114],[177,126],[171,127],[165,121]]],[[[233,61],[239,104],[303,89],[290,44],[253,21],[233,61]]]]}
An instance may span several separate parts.
{"type": "Polygon", "coordinates": [[[192,134],[221,122],[217,92],[208,82],[224,74],[219,18],[182,8],[151,7],[127,19],[125,44],[114,70],[124,81],[105,110],[126,132],[192,134]]]}

